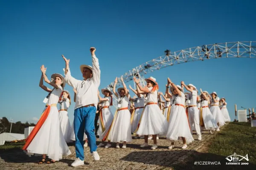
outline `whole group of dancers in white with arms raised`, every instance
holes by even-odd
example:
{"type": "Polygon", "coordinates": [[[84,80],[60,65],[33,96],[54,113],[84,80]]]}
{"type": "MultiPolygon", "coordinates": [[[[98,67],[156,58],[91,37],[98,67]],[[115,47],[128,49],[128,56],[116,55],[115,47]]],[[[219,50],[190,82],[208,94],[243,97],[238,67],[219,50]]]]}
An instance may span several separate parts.
{"type": "MultiPolygon", "coordinates": [[[[111,147],[112,142],[116,148],[126,148],[126,143],[134,139],[144,138],[140,147],[148,147],[148,139],[153,139],[151,149],[157,148],[157,139],[164,137],[170,141],[169,149],[174,148],[175,141],[183,141],[182,149],[194,141],[193,130],[197,139],[201,140],[202,130],[219,131],[225,122],[230,122],[225,98],[219,98],[216,92],[209,94],[183,81],[180,85],[167,79],[165,94],[160,93],[159,85],[154,77],[145,79],[147,85],[134,77],[137,88],[129,88],[137,96],[131,98],[128,88],[121,77],[123,87],[116,89],[118,79],[115,79],[113,91],[101,89],[104,97],[98,90],[100,84],[99,61],[95,56],[95,48],[90,48],[93,65],[81,65],[83,80],[71,76],[69,59],[64,56],[66,63],[65,77],[61,74],[52,74],[50,81],[46,76],[46,68],[41,66],[41,79],[39,86],[49,92],[44,99],[46,107],[26,139],[23,150],[29,155],[41,155],[38,164],[55,163],[62,156],[70,155],[67,143],[75,141],[76,160],[71,166],[84,164],[84,147],[90,147],[94,160],[100,159],[97,147],[111,147]],[[43,80],[53,87],[53,90],[43,84],[43,80]],[[70,93],[64,90],[66,83],[74,91],[74,121],[70,126],[68,108],[71,105],[70,93]],[[186,93],[184,92],[186,89],[186,93]],[[111,113],[113,95],[118,99],[117,110],[111,113]],[[163,99],[162,99],[163,97],[163,99]],[[60,109],[57,109],[59,103],[60,109]],[[99,106],[99,112],[97,111],[99,106]],[[95,117],[99,114],[99,130],[95,132],[95,117]],[[96,145],[98,133],[100,144],[96,145]],[[84,142],[85,141],[85,142],[84,142]],[[107,142],[107,143],[105,143],[107,142]],[[46,160],[48,156],[49,161],[46,160]]],[[[73,111],[72,111],[73,113],[73,111]]]]}

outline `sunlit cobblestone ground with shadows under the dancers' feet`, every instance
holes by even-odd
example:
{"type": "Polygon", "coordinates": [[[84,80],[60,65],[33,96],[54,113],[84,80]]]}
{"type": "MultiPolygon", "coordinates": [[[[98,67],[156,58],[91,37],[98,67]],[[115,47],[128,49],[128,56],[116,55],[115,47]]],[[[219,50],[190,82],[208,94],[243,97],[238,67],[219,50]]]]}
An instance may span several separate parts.
{"type": "MultiPolygon", "coordinates": [[[[217,133],[217,132],[213,132],[217,133]]],[[[48,169],[86,169],[86,170],[169,170],[175,164],[181,164],[189,158],[195,151],[198,151],[205,143],[214,138],[214,134],[203,131],[202,140],[198,141],[197,136],[193,135],[195,141],[190,143],[188,147],[181,149],[182,142],[176,142],[175,148],[168,149],[170,142],[164,138],[157,140],[158,148],[151,150],[148,148],[140,148],[140,144],[144,143],[144,139],[133,139],[127,144],[126,149],[116,149],[116,144],[106,149],[98,148],[100,161],[94,161],[90,156],[89,147],[84,148],[84,164],[79,167],[71,167],[70,164],[76,159],[75,147],[70,146],[71,155],[54,164],[37,164],[41,157],[28,157],[22,150],[15,150],[0,153],[0,169],[1,170],[48,170],[48,169]]],[[[153,140],[148,140],[149,144],[153,144],[153,140]]],[[[97,140],[99,144],[99,139],[97,140]]],[[[122,144],[120,144],[122,147],[122,144]]]]}

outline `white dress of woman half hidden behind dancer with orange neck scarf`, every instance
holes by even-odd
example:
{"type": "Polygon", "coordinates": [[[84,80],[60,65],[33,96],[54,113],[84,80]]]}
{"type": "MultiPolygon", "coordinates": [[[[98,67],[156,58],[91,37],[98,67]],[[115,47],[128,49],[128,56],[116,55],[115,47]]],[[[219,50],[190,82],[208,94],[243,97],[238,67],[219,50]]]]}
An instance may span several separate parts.
{"type": "Polygon", "coordinates": [[[137,129],[144,108],[144,96],[134,99],[134,113],[131,115],[131,133],[137,129]]]}

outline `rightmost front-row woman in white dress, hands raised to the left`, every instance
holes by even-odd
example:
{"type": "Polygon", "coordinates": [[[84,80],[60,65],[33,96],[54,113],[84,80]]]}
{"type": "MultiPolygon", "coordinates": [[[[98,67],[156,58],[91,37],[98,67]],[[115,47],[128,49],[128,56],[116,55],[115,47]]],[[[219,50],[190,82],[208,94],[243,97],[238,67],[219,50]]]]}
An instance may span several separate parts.
{"type": "Polygon", "coordinates": [[[185,111],[185,95],[179,85],[175,85],[168,78],[168,87],[171,85],[172,91],[172,109],[169,118],[169,127],[166,134],[166,139],[171,140],[172,144],[169,149],[174,148],[174,142],[181,137],[183,141],[182,149],[186,149],[187,144],[194,141],[190,132],[189,122],[185,111]]]}

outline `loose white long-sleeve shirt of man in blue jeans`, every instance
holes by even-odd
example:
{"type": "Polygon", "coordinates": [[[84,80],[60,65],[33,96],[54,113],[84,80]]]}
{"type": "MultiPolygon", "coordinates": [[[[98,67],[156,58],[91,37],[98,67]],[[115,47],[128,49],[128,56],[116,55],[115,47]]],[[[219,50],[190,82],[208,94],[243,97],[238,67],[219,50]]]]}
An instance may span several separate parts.
{"type": "Polygon", "coordinates": [[[93,55],[93,77],[87,80],[77,80],[70,74],[70,70],[65,75],[65,81],[68,85],[76,89],[76,105],[75,109],[81,108],[85,105],[94,104],[97,107],[98,104],[98,88],[100,84],[100,69],[99,60],[93,55]]]}

